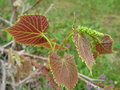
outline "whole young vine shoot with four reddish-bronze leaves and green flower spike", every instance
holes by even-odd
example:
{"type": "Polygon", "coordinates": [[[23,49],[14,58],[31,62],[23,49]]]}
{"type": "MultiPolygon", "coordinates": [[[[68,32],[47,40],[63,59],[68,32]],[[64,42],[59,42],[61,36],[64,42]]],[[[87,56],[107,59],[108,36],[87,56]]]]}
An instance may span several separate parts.
{"type": "Polygon", "coordinates": [[[57,44],[45,34],[49,29],[49,23],[42,15],[23,15],[13,26],[6,29],[13,39],[19,44],[42,46],[51,49],[49,52],[48,66],[57,84],[72,90],[78,81],[78,72],[74,56],[65,52],[65,44],[69,38],[73,39],[76,50],[80,58],[86,63],[90,72],[95,59],[100,54],[112,53],[112,39],[109,35],[97,32],[87,27],[73,25],[71,33],[62,44],[57,44]],[[95,48],[91,48],[86,35],[94,39],[95,48]],[[92,50],[93,49],[93,50],[92,50]],[[59,51],[63,50],[64,56],[59,56],[59,51]]]}

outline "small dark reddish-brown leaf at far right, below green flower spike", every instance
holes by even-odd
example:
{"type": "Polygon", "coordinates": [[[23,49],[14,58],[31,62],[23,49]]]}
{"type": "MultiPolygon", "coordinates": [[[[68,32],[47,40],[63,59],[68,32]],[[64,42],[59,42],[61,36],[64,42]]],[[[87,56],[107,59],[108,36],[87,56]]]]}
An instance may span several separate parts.
{"type": "Polygon", "coordinates": [[[110,36],[105,35],[102,38],[101,43],[97,42],[96,44],[96,51],[99,54],[109,54],[112,53],[112,44],[113,44],[113,40],[110,38],[110,36]]]}

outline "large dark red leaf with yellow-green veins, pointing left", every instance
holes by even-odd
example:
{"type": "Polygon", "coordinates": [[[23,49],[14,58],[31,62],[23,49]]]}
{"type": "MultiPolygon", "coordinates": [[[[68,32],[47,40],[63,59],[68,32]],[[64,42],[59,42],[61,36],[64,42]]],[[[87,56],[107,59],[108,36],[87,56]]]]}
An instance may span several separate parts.
{"type": "Polygon", "coordinates": [[[40,45],[47,42],[41,34],[48,28],[49,24],[45,16],[24,15],[20,16],[20,20],[15,25],[6,30],[13,35],[18,43],[40,45]]]}

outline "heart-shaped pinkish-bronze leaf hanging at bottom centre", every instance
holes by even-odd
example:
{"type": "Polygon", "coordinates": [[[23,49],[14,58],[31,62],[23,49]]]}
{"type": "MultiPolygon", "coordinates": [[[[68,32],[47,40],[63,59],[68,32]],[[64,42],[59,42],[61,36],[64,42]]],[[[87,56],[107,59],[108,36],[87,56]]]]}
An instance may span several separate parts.
{"type": "Polygon", "coordinates": [[[57,53],[50,52],[50,67],[56,82],[72,90],[78,79],[73,56],[65,53],[62,58],[57,53]]]}

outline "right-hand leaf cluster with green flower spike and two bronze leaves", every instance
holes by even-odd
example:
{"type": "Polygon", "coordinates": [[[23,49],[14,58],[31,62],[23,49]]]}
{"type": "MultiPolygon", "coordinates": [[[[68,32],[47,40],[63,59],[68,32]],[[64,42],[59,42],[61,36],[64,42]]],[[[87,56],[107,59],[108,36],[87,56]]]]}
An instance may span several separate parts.
{"type": "Polygon", "coordinates": [[[95,30],[83,26],[78,26],[77,29],[73,27],[73,29],[74,29],[73,39],[78,54],[80,55],[81,59],[85,61],[90,71],[92,71],[92,65],[98,55],[109,54],[113,52],[112,51],[113,40],[109,35],[97,32],[95,30]],[[92,50],[92,48],[90,47],[85,37],[85,34],[89,35],[96,41],[94,43],[95,50],[92,50]],[[101,37],[102,39],[99,39],[101,37]]]}

